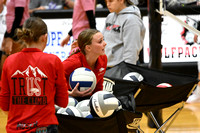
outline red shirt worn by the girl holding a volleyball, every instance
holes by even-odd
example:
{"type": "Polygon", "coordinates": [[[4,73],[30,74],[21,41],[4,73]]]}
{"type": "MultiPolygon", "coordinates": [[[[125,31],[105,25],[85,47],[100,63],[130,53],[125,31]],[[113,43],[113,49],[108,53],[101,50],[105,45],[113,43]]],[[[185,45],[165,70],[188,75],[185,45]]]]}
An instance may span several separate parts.
{"type": "MultiPolygon", "coordinates": [[[[69,58],[67,58],[66,60],[64,60],[63,65],[68,86],[69,86],[69,76],[76,68],[86,67],[92,70],[86,61],[85,55],[83,55],[81,52],[74,54],[69,58]]],[[[94,70],[92,70],[97,78],[97,85],[93,91],[93,94],[99,90],[103,90],[103,77],[106,72],[106,67],[107,67],[107,56],[106,55],[99,56],[95,68],[94,70]]]]}

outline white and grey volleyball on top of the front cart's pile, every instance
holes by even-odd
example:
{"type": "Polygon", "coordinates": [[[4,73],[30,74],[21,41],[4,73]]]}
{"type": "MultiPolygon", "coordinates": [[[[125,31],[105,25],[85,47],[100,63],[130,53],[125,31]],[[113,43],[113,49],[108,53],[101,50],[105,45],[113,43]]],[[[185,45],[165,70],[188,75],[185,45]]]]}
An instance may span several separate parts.
{"type": "Polygon", "coordinates": [[[90,98],[90,112],[94,117],[108,117],[119,107],[119,100],[110,92],[98,91],[90,98]]]}

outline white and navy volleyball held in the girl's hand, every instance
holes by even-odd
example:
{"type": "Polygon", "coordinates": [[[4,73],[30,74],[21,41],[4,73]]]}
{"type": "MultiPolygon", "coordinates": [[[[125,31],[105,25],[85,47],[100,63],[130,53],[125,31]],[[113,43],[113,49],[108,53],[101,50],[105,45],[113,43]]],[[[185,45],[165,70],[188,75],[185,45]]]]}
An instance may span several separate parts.
{"type": "Polygon", "coordinates": [[[69,85],[73,89],[77,83],[79,83],[79,91],[85,91],[89,88],[94,90],[96,87],[96,76],[93,71],[88,68],[77,68],[70,74],[69,85]]]}

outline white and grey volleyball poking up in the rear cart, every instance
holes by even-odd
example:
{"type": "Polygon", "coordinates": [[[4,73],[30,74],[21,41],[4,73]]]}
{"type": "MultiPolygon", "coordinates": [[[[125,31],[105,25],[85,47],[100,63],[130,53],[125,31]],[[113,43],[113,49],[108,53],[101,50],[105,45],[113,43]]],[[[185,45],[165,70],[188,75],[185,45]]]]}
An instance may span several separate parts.
{"type": "Polygon", "coordinates": [[[130,80],[135,82],[141,82],[144,80],[143,76],[137,72],[130,72],[123,77],[123,80],[130,80]]]}

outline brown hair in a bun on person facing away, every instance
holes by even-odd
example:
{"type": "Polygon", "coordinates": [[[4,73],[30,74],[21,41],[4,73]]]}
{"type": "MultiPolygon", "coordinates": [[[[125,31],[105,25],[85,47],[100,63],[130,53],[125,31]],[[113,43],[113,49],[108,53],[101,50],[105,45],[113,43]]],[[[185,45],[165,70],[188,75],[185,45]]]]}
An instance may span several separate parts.
{"type": "Polygon", "coordinates": [[[22,29],[17,30],[17,37],[29,45],[31,42],[37,42],[41,35],[47,33],[47,25],[38,17],[28,18],[22,29]]]}

